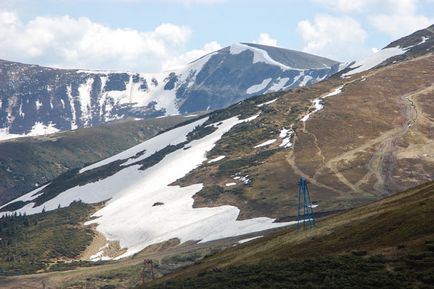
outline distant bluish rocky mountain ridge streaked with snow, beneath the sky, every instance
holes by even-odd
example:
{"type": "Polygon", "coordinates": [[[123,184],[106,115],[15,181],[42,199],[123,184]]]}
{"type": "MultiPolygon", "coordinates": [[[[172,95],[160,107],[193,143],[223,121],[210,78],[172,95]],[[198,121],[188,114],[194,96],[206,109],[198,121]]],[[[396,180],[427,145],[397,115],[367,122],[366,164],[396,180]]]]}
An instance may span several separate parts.
{"type": "Polygon", "coordinates": [[[0,139],[227,107],[247,97],[315,83],[335,61],[235,44],[169,72],[47,68],[0,61],[0,139]]]}

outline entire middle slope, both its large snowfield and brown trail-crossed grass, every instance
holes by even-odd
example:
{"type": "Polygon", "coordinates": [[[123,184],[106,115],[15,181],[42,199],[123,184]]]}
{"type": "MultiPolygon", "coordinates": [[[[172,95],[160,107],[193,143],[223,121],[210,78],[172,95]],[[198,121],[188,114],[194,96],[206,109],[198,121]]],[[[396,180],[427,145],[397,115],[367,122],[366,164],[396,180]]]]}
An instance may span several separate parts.
{"type": "Polygon", "coordinates": [[[107,201],[87,224],[123,248],[97,256],[119,258],[174,238],[205,242],[288,225],[274,219],[295,214],[300,176],[320,212],[380,199],[434,177],[432,63],[428,53],[244,100],[0,210],[107,201]]]}

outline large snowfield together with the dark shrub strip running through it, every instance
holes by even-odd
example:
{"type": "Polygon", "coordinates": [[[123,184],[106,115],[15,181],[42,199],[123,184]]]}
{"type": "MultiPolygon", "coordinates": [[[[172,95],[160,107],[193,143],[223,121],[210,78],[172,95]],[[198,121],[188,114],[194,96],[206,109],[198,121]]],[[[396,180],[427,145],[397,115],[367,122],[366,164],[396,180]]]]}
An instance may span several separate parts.
{"type": "MultiPolygon", "coordinates": [[[[20,212],[34,214],[69,206],[74,200],[94,203],[111,199],[95,216],[99,216],[98,230],[111,236],[108,241],[120,241],[121,248],[127,248],[115,255],[117,258],[172,238],[205,242],[284,226],[285,223],[274,224],[269,218],[237,221],[239,210],[232,206],[193,209],[191,196],[201,189],[201,184],[185,188],[170,185],[202,163],[204,153],[224,133],[254,118],[231,117],[220,121],[202,117],[108,160],[71,171],[3,206],[2,210],[20,208],[20,212]],[[167,146],[161,150],[163,144],[167,146]],[[146,218],[143,212],[148,212],[146,218]]],[[[104,252],[98,256],[104,256],[104,252]]]]}

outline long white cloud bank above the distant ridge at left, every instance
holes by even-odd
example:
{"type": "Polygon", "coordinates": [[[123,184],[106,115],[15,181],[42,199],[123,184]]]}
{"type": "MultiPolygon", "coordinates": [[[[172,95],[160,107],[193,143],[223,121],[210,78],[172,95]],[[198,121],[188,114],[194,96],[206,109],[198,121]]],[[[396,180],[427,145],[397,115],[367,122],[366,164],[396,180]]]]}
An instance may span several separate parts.
{"type": "MultiPolygon", "coordinates": [[[[0,11],[0,58],[65,68],[158,71],[185,53],[189,28],[170,23],[151,31],[111,28],[89,18],[36,17],[26,23],[0,11]]],[[[217,47],[214,44],[215,48],[217,47]]]]}

